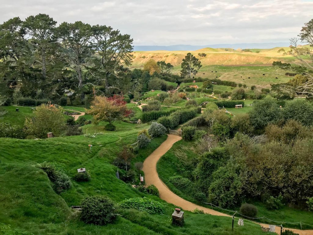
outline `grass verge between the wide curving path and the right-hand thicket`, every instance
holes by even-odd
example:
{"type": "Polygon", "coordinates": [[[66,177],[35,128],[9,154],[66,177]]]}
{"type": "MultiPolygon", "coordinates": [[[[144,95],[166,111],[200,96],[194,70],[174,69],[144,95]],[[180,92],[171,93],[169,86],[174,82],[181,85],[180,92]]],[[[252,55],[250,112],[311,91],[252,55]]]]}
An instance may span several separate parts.
{"type": "MultiPolygon", "coordinates": [[[[169,182],[169,177],[173,175],[182,175],[183,177],[190,178],[192,174],[192,163],[195,158],[195,154],[193,153],[193,141],[184,141],[180,140],[176,142],[173,147],[162,156],[162,158],[157,163],[157,172],[160,179],[178,196],[192,201],[198,205],[202,205],[202,203],[197,202],[192,197],[192,192],[190,194],[184,193],[177,189],[171,182],[169,182]]],[[[258,215],[257,217],[267,217],[275,221],[285,221],[285,222],[304,222],[307,224],[312,224],[313,212],[297,210],[290,208],[288,206],[283,207],[279,210],[268,210],[261,202],[253,202],[255,206],[258,207],[258,215]]],[[[210,206],[207,206],[211,208],[210,206]]],[[[218,210],[218,208],[213,208],[214,210],[218,210]]],[[[239,210],[238,208],[228,208],[233,211],[239,210]]],[[[223,213],[233,214],[233,212],[226,212],[224,210],[218,210],[223,213]]],[[[272,224],[273,222],[261,219],[259,222],[272,224]]],[[[283,224],[284,227],[290,228],[300,228],[300,224],[283,224]]],[[[302,224],[303,229],[312,229],[312,227],[306,226],[302,224]]],[[[252,233],[251,233],[252,234],[252,233]]]]}

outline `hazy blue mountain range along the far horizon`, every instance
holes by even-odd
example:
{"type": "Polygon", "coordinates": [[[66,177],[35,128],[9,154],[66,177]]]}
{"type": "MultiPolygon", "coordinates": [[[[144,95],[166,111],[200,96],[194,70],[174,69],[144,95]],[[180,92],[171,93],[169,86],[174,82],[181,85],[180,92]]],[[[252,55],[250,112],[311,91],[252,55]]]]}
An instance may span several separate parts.
{"type": "Polygon", "coordinates": [[[289,42],[275,42],[275,43],[237,43],[237,44],[213,44],[213,45],[171,45],[171,46],[134,46],[134,51],[151,51],[151,50],[199,50],[206,47],[211,48],[233,48],[233,49],[270,49],[274,47],[288,47],[289,42]]]}

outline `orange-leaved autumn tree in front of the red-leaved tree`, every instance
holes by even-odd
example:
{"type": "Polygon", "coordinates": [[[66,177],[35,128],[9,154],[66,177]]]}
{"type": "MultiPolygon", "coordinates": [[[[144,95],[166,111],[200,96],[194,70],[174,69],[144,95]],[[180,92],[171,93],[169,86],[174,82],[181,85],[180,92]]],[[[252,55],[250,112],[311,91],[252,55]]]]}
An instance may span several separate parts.
{"type": "Polygon", "coordinates": [[[126,107],[126,102],[123,96],[114,95],[113,97],[96,96],[90,106],[88,114],[94,116],[94,123],[98,124],[101,121],[108,122],[105,126],[107,130],[115,130],[112,124],[114,121],[121,121],[127,117],[131,110],[126,107]]]}

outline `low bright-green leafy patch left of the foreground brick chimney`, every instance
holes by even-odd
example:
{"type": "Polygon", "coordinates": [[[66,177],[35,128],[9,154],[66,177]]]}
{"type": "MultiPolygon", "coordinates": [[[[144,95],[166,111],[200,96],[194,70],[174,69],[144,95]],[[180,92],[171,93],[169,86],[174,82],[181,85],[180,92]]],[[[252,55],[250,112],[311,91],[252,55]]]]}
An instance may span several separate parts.
{"type": "Polygon", "coordinates": [[[145,211],[149,214],[163,215],[165,213],[165,208],[161,202],[154,201],[147,197],[135,197],[125,199],[124,201],[121,201],[120,206],[121,208],[133,208],[138,211],[145,211]]]}

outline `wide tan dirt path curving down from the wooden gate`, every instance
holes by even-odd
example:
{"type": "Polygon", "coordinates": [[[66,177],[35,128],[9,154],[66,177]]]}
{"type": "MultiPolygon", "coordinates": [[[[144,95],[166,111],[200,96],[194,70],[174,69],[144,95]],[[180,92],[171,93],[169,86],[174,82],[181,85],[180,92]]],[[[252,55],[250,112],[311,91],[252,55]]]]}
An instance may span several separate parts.
{"type": "MultiPolygon", "coordinates": [[[[187,201],[177,196],[162,182],[162,180],[160,180],[156,171],[156,164],[158,160],[168,150],[172,148],[174,143],[176,143],[177,141],[181,139],[182,137],[180,136],[168,134],[167,139],[146,158],[146,160],[143,163],[143,168],[142,168],[142,170],[145,173],[146,185],[151,185],[151,184],[155,185],[160,192],[161,199],[163,199],[164,201],[167,201],[168,203],[172,203],[176,206],[179,206],[183,210],[193,211],[194,209],[198,208],[200,210],[203,210],[205,213],[208,213],[211,215],[231,217],[230,215],[227,215],[218,211],[214,211],[207,207],[198,206],[190,201],[187,201]]],[[[268,224],[259,223],[259,225],[268,227],[268,224]]],[[[284,230],[285,229],[292,230],[296,233],[299,233],[300,235],[313,235],[313,230],[298,230],[298,229],[284,228],[284,230]]],[[[276,233],[280,234],[280,227],[276,227],[276,233]]]]}

